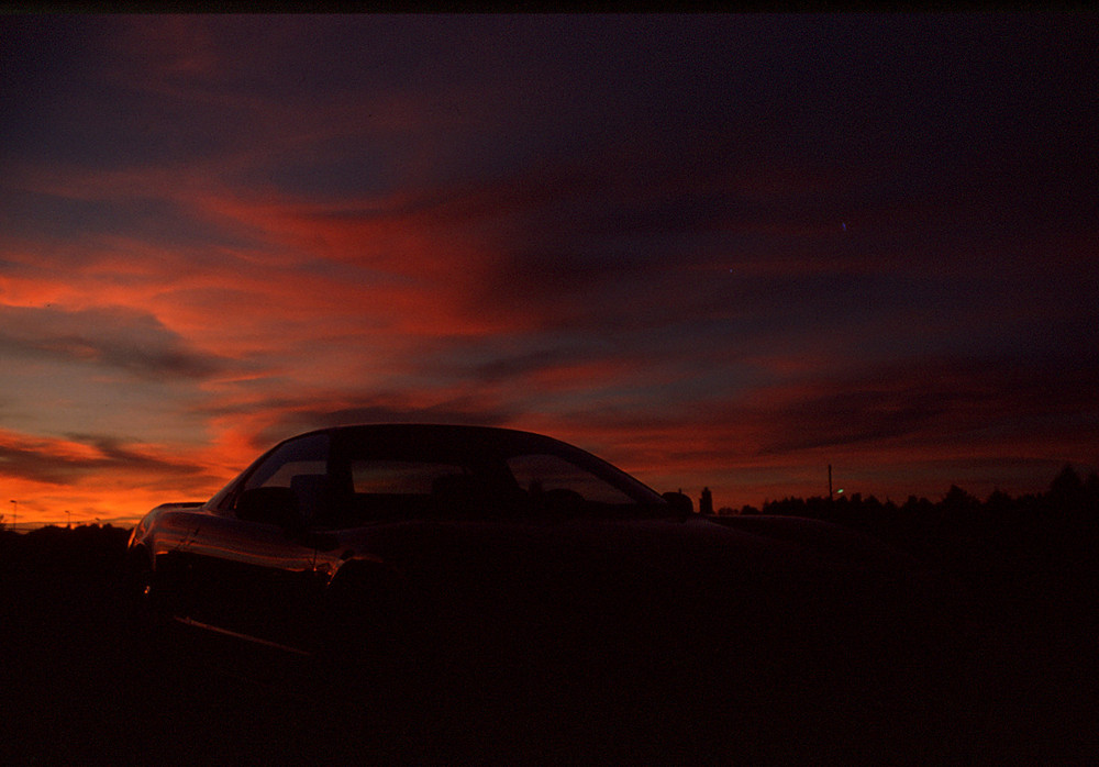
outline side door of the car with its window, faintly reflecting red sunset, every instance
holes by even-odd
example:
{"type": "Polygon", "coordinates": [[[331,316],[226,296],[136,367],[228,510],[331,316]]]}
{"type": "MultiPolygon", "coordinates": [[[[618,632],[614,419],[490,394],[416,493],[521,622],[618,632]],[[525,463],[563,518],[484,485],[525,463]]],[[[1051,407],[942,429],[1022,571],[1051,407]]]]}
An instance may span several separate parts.
{"type": "Polygon", "coordinates": [[[184,545],[193,620],[248,637],[301,644],[324,582],[315,569],[314,538],[306,534],[315,499],[301,488],[322,483],[317,480],[326,476],[328,453],[323,433],[284,443],[244,478],[225,508],[203,516],[184,545]],[[297,493],[292,511],[299,519],[263,509],[245,514],[240,501],[249,492],[254,498],[256,490],[274,491],[271,498],[297,493]]]}

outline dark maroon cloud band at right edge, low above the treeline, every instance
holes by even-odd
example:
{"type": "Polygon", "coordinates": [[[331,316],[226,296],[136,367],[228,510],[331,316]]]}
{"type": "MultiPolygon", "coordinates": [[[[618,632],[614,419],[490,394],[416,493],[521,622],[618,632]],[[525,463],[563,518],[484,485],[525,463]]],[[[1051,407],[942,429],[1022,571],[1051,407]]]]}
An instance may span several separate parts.
{"type": "MultiPolygon", "coordinates": [[[[1019,366],[1011,358],[913,359],[809,382],[756,414],[773,424],[764,453],[902,446],[1034,451],[1051,436],[1099,438],[1099,358],[1081,351],[1019,366]]],[[[1041,452],[1041,449],[1039,449],[1041,452]]]]}

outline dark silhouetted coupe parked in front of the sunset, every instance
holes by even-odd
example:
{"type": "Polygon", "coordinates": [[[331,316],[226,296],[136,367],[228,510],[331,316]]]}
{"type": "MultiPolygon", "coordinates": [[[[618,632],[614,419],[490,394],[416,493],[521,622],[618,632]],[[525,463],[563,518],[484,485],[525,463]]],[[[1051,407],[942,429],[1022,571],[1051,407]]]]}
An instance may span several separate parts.
{"type": "Polygon", "coordinates": [[[396,667],[406,685],[418,668],[589,712],[811,705],[844,722],[882,701],[937,710],[956,679],[932,569],[819,521],[695,513],[522,431],[301,434],[210,500],[153,509],[127,551],[145,620],[341,676],[396,667]]]}

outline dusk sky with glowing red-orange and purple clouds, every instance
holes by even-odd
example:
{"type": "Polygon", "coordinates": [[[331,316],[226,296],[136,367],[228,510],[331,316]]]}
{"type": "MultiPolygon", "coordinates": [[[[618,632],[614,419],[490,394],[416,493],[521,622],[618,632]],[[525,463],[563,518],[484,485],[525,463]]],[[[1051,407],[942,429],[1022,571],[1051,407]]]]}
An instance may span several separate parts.
{"type": "Polygon", "coordinates": [[[343,423],[731,508],[1094,470],[1097,22],[0,16],[0,513],[343,423]]]}

